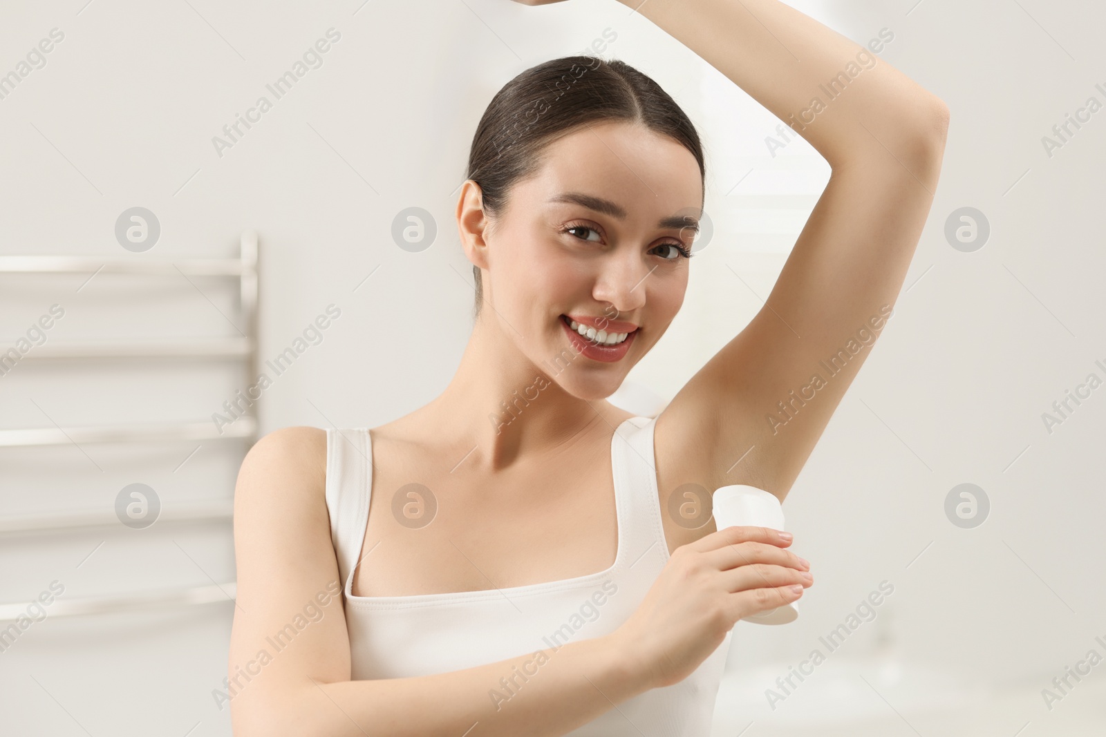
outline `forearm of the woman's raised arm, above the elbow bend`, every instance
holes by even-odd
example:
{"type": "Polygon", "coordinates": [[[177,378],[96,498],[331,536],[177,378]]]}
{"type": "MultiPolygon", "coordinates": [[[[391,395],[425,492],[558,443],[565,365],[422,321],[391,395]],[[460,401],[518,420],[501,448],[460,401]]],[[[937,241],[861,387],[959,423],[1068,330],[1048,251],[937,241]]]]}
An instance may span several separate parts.
{"type": "Polygon", "coordinates": [[[779,0],[618,1],[729,77],[831,166],[869,151],[910,156],[919,136],[937,137],[943,105],[935,95],[779,0]]]}

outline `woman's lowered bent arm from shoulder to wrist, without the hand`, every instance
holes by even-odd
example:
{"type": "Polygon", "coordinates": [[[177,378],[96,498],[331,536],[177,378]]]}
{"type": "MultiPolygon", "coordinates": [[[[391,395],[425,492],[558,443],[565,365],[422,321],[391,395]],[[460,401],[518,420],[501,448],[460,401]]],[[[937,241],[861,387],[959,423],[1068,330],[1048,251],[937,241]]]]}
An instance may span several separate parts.
{"type": "Polygon", "coordinates": [[[351,681],[325,462],[322,430],[285,428],[262,438],[239,472],[230,688],[215,694],[220,707],[229,696],[236,737],[460,737],[473,725],[471,734],[488,737],[553,737],[653,687],[611,636],[546,651],[541,678],[500,709],[489,691],[515,667],[531,667],[533,653],[436,675],[351,681]]]}

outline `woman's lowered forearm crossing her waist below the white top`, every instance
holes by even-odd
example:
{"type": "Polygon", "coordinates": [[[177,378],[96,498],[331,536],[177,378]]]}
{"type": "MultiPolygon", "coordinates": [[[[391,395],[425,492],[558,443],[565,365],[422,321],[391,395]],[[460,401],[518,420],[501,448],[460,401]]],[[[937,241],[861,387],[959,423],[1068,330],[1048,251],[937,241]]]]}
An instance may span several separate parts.
{"type": "Polygon", "coordinates": [[[613,636],[542,652],[543,662],[528,654],[427,676],[309,685],[279,724],[255,734],[461,737],[476,725],[483,737],[555,737],[651,687],[613,636]]]}

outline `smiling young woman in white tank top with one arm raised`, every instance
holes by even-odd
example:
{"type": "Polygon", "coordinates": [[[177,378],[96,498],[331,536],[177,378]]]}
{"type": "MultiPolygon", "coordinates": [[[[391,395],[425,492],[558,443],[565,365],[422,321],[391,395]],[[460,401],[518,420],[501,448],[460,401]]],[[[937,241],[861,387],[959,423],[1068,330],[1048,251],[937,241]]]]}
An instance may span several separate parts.
{"type": "Polygon", "coordinates": [[[776,0],[637,12],[833,169],[766,304],[659,415],[606,401],[682,303],[699,138],[620,62],[509,82],[457,204],[479,287],[452,381],[242,464],[237,735],[707,735],[726,634],[811,585],[790,537],[682,508],[786,496],[902,285],[948,110],[776,0]]]}

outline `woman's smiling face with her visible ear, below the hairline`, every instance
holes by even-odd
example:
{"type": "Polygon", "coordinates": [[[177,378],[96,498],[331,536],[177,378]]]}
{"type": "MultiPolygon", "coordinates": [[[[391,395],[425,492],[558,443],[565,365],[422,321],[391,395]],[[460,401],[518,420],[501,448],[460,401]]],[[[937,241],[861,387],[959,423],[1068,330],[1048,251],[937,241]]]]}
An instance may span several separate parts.
{"type": "Polygon", "coordinates": [[[573,130],[542,158],[493,222],[465,185],[461,240],[489,303],[480,320],[570,394],[602,399],[684,303],[702,175],[678,141],[622,120],[573,130]]]}

